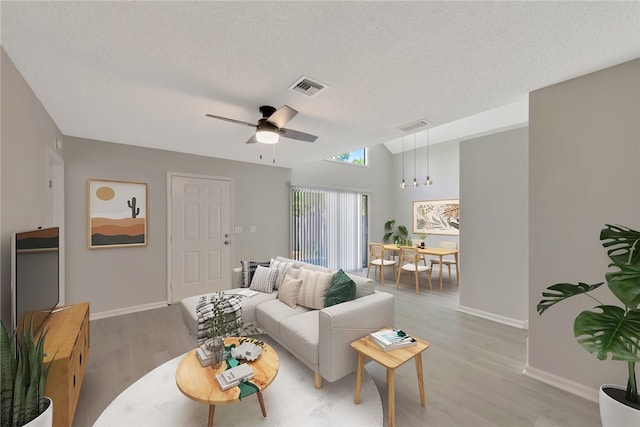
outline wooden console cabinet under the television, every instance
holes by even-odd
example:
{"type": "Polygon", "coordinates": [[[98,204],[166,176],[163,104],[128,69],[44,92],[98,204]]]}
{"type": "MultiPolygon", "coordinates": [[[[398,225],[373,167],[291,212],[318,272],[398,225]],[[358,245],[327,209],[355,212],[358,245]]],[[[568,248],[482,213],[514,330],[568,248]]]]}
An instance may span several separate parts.
{"type": "Polygon", "coordinates": [[[89,303],[56,308],[45,324],[45,395],[53,400],[53,426],[71,427],[89,358],[89,303]]]}

